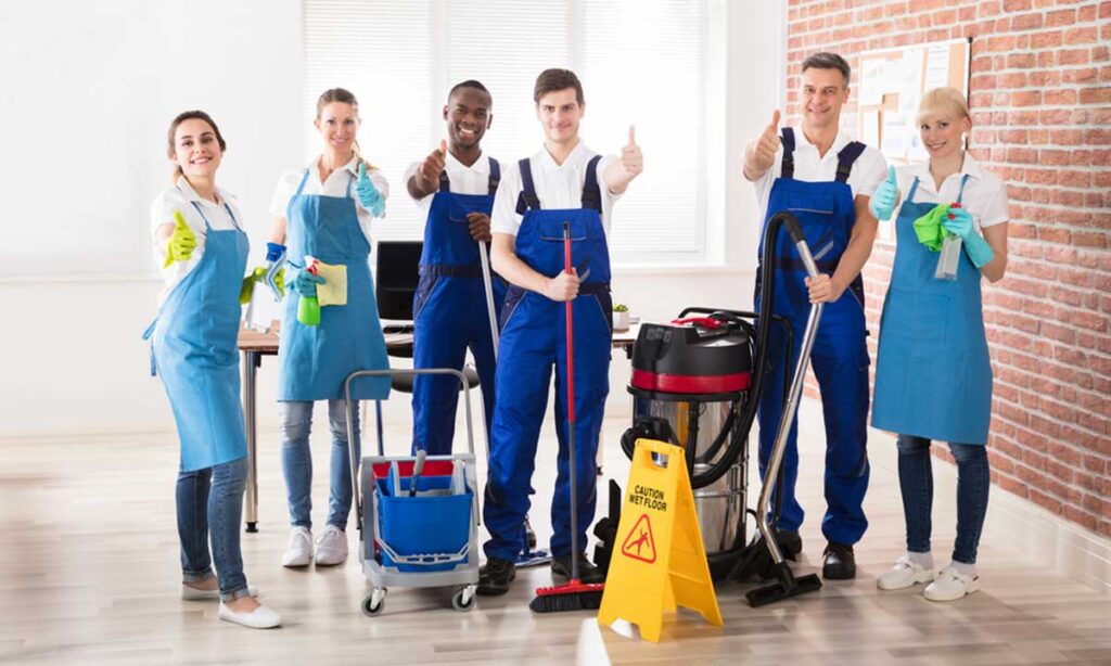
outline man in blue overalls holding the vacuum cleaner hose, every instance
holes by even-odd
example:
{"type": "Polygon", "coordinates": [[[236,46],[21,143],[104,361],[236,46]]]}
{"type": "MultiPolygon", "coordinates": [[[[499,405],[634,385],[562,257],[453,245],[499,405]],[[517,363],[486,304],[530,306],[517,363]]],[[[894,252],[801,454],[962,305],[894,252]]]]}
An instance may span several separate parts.
{"type": "MultiPolygon", "coordinates": [[[[795,332],[792,363],[799,357],[801,331],[810,303],[825,303],[811,354],[821,390],[825,421],[825,501],[822,534],[828,541],[822,575],[843,579],[857,575],[853,544],[868,528],[862,503],[868,490],[868,335],[864,289],[860,271],[875,240],[875,218],[869,201],[887,176],[887,163],[874,148],[840,131],[841,107],[849,99],[849,63],[835,53],[815,53],[802,63],[802,124],[779,130],[779,110],[744,152],[744,178],[757,188],[760,212],[768,220],[790,211],[802,225],[821,274],[811,280],[793,243],[778,241],[772,307],[788,317],[795,332]]],[[[760,253],[764,239],[761,236],[760,253]]],[[[783,339],[773,335],[769,359],[782,363],[783,339]]],[[[783,374],[768,374],[760,404],[760,473],[782,416],[783,374]]],[[[802,548],[798,536],[803,512],[794,496],[798,478],[798,426],[793,425],[783,458],[782,513],[778,529],[784,551],[802,548]]]]}

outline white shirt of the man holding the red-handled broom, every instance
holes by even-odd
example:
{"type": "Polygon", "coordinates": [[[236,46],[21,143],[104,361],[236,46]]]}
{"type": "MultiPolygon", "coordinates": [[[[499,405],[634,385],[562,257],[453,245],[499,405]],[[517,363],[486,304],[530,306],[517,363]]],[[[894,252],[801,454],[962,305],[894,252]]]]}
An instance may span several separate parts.
{"type": "MultiPolygon", "coordinates": [[[[582,208],[582,183],[587,178],[587,164],[595,154],[598,153],[579,141],[562,164],[557,164],[544,148],[532,155],[529,165],[532,184],[536,185],[537,198],[540,199],[540,208],[548,210],[582,208]]],[[[598,161],[597,180],[602,194],[602,228],[607,235],[610,233],[613,202],[620,195],[613,194],[605,186],[602,172],[615,159],[617,155],[607,155],[598,161]]],[[[517,235],[523,219],[523,215],[517,213],[517,200],[521,195],[521,169],[518,163],[503,164],[501,184],[498,185],[498,194],[493,200],[493,215],[490,216],[490,226],[494,233],[517,235]]]]}

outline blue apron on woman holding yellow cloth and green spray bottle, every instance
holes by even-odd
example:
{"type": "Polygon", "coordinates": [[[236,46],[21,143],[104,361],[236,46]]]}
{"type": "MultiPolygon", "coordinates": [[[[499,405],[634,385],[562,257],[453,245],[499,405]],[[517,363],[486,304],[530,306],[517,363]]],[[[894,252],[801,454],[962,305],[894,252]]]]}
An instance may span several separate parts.
{"type": "MultiPolygon", "coordinates": [[[[286,209],[289,259],[304,264],[312,255],[327,264],[347,266],[347,305],[320,309],[320,324],[297,321],[298,296],[286,294],[278,347],[278,400],[341,400],[343,381],[357,370],[386,370],[386,339],[378,321],[370,244],[359,226],[351,183],[346,196],[302,194],[309,170],[286,209]]],[[[352,180],[354,176],[352,175],[352,180]]],[[[351,385],[352,400],[386,400],[389,377],[363,377],[351,385]]]]}

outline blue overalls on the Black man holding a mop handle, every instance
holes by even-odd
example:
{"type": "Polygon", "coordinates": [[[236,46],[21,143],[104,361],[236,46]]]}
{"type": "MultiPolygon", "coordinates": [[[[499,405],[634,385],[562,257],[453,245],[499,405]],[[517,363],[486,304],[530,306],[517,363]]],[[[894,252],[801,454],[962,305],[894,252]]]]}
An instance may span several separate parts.
{"type": "MultiPolygon", "coordinates": [[[[470,347],[482,384],[486,432],[490,432],[494,404],[494,350],[479,246],[471,238],[467,214],[490,214],[501,169],[490,160],[487,194],[451,192],[448,173],[440,173],[440,191],[424,223],[420,284],[413,297],[413,365],[463,369],[470,347]]],[[[506,301],[506,284],[491,275],[494,312],[506,301]]],[[[430,455],[451,453],[456,433],[459,381],[418,375],[413,380],[413,450],[430,455]]]]}

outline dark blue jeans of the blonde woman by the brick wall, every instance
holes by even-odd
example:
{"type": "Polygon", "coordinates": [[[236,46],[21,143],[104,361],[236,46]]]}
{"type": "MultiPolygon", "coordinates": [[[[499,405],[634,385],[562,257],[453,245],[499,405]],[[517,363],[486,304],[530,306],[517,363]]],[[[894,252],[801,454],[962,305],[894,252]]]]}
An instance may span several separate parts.
{"type": "MultiPolygon", "coordinates": [[[[957,541],[953,561],[975,564],[983,518],[988,513],[991,472],[988,451],[982,444],[949,444],[957,461],[957,541]]],[[[930,440],[899,435],[899,486],[902,488],[907,518],[907,549],[930,552],[930,513],[933,505],[933,472],[930,467],[930,440]]]]}

